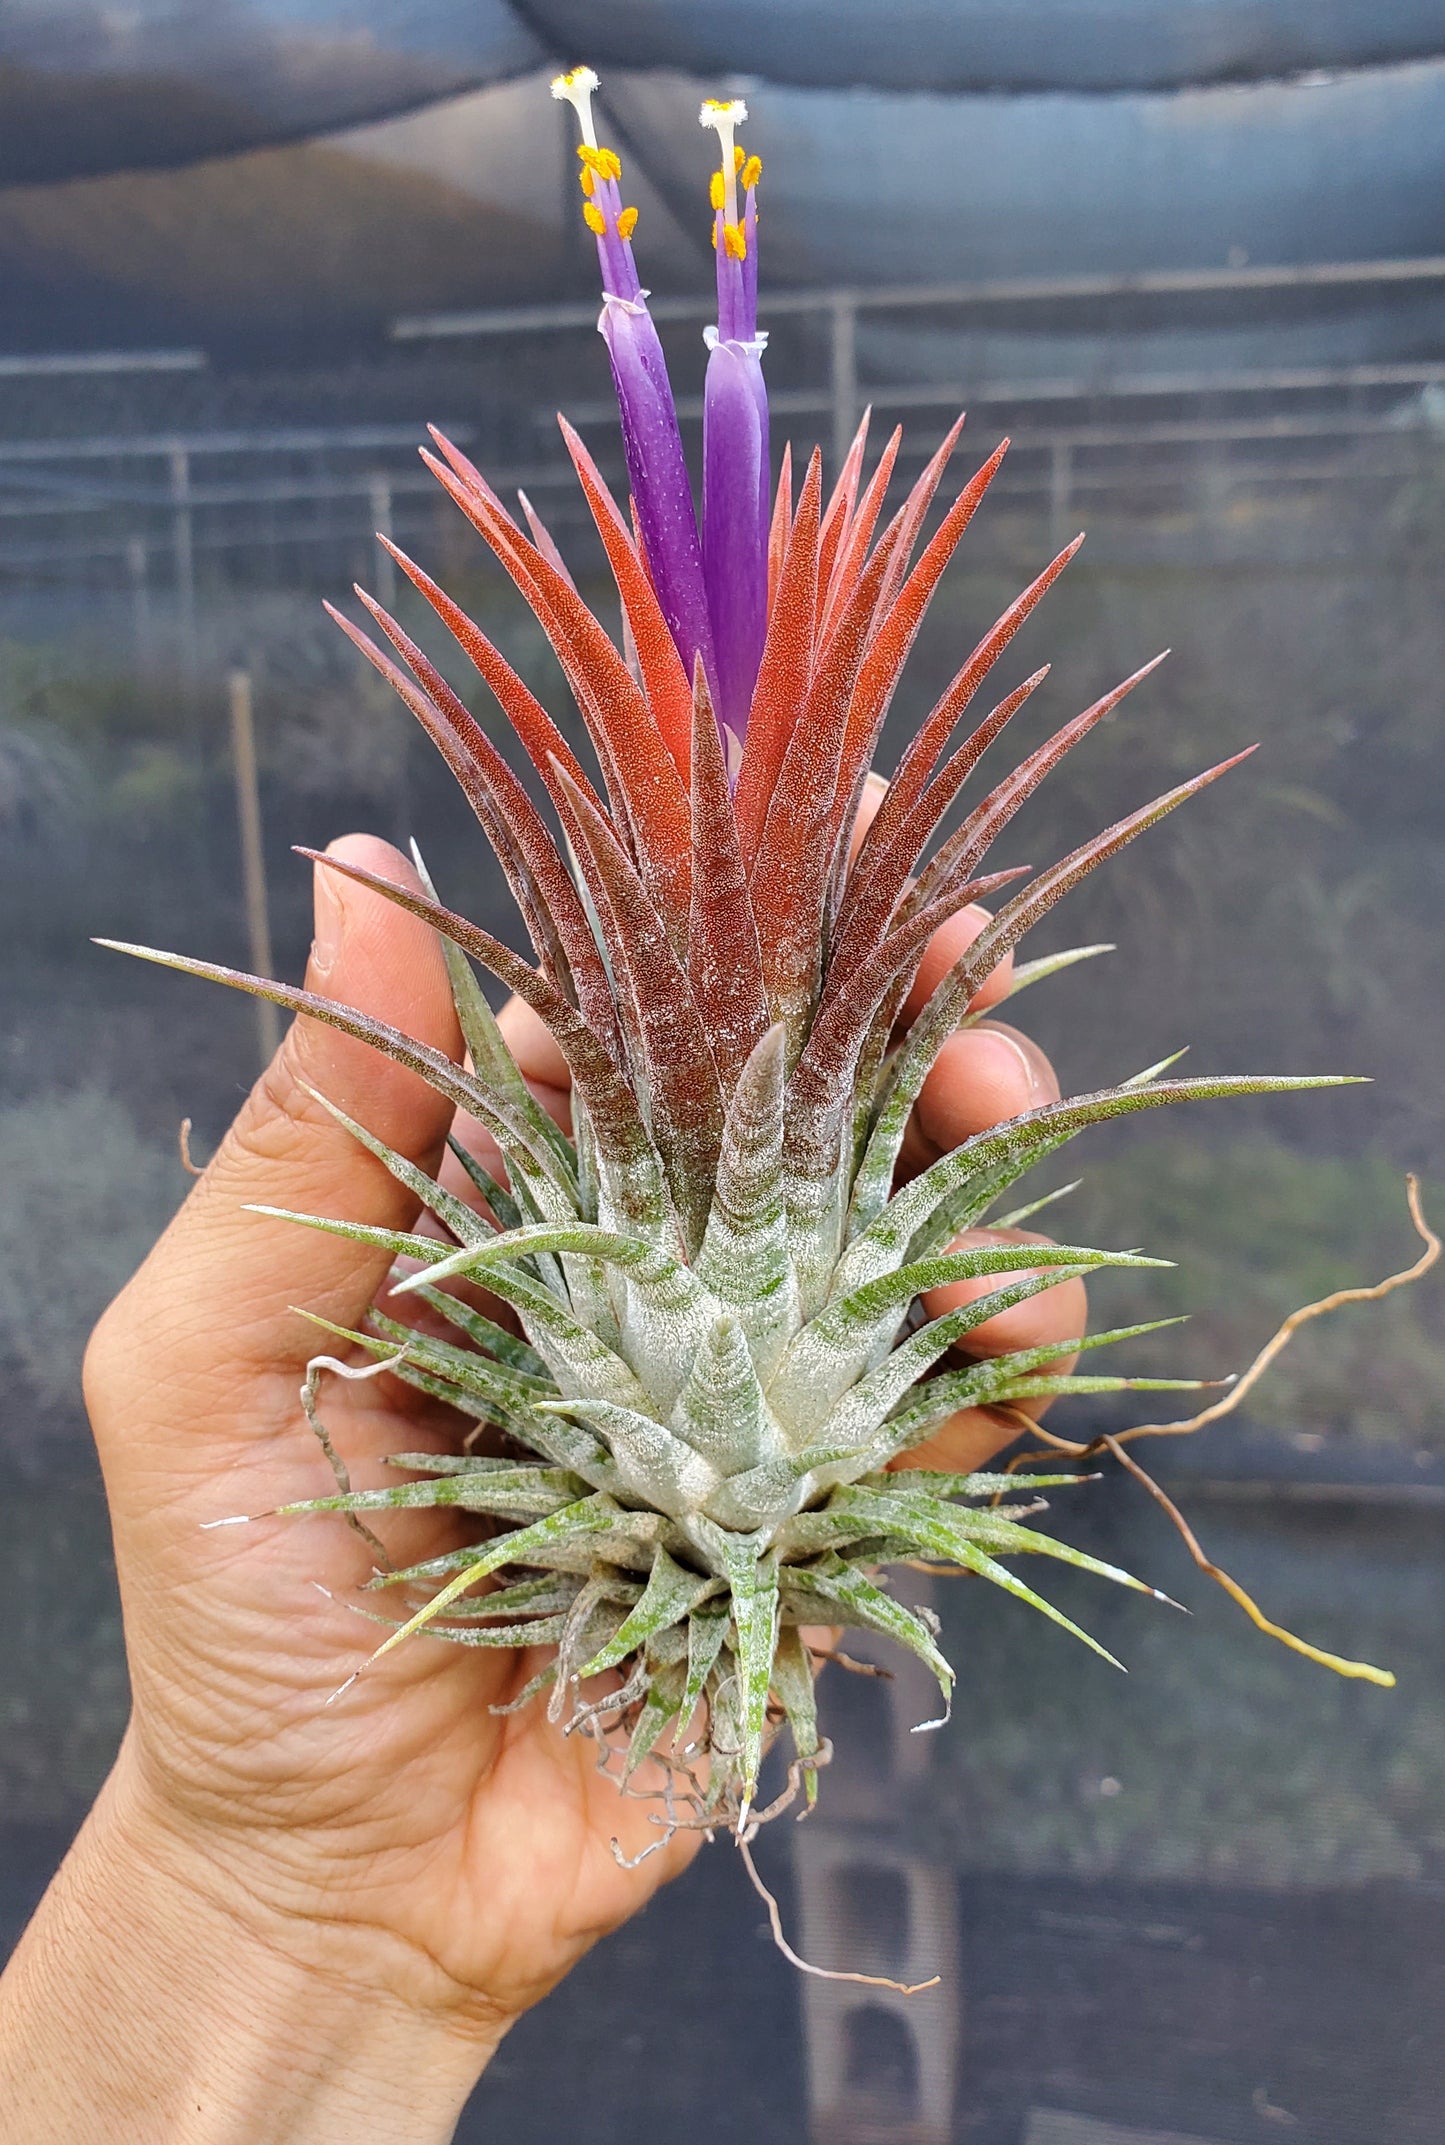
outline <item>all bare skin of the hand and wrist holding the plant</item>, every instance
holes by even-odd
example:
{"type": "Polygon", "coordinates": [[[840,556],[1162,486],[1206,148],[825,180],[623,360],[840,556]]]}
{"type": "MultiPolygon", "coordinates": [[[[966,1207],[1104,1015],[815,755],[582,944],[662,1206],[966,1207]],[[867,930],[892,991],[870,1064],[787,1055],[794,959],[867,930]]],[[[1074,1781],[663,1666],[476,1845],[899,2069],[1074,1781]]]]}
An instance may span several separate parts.
{"type": "MultiPolygon", "coordinates": [[[[371,837],[337,854],[412,877],[371,837]]],[[[937,972],[982,922],[965,912],[945,927],[937,972]]],[[[431,933],[326,871],[307,982],[461,1051],[431,933]]],[[[980,1004],[1005,987],[990,978],[980,1004]]],[[[551,1038],[519,1004],[504,1027],[566,1118],[551,1038]]],[[[690,1860],[680,1838],[622,1870],[611,1840],[637,1853],[656,1832],[596,1774],[594,1748],[564,1740],[542,1707],[489,1712],[540,1656],[416,1641],[328,1705],[377,1637],[347,1607],[371,1553],[328,1519],[202,1532],[317,1493],[298,1386],[324,1343],[292,1306],[356,1323],[388,1263],[244,1208],[416,1221],[307,1088],[424,1167],[444,1150],[437,1096],[298,1021],[92,1338],[86,1394],[135,1710],[0,1980],[9,2145],[444,2141],[508,2025],[690,1860]]],[[[963,1032],[924,1088],[905,1167],[1057,1092],[1016,1030],[963,1032]]],[[[480,1128],[461,1130],[485,1148],[480,1128]]],[[[984,1287],[937,1291],[928,1308],[984,1287]]],[[[1083,1287],[1068,1281],[969,1341],[1033,1347],[1083,1319],[1083,1287]]],[[[330,1379],[324,1409],[362,1484],[382,1480],[388,1452],[455,1450],[457,1418],[390,1377],[330,1379]]],[[[956,1416],[911,1461],[978,1465],[1001,1435],[988,1416],[956,1416]]],[[[424,1512],[388,1529],[401,1562],[452,1538],[424,1512]]]]}

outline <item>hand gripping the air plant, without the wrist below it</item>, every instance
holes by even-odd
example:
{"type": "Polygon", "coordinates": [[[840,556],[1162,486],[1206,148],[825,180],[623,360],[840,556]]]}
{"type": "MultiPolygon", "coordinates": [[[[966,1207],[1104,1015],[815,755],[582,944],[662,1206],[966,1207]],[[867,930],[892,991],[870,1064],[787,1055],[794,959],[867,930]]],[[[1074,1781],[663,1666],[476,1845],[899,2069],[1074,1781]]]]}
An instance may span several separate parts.
{"type": "MultiPolygon", "coordinates": [[[[390,877],[407,871],[382,843],[352,839],[347,852],[390,877]]],[[[375,894],[349,884],[343,892],[334,873],[319,873],[307,980],[459,1055],[431,933],[375,894]]],[[[519,1062],[547,1083],[549,1066],[527,1064],[525,1040],[515,1038],[519,1062]]],[[[1005,1077],[990,1092],[978,1077],[984,1040],[956,1038],[973,1049],[971,1070],[941,1064],[939,1120],[933,1133],[920,1122],[920,1139],[952,1145],[973,1128],[967,1111],[982,1122],[1012,1115],[1038,1098],[1036,1077],[1051,1079],[1042,1060],[1042,1075],[1031,1070],[1018,1038],[995,1034],[995,1075],[1001,1064],[1005,1077]]],[[[542,1705],[491,1712],[538,1658],[418,1639],[328,1705],[379,1639],[349,1607],[375,1557],[339,1521],[204,1532],[324,1489],[298,1394],[317,1334],[292,1306],[356,1326],[388,1263],[386,1253],[247,1205],[390,1229],[416,1218],[311,1090],[424,1167],[442,1154],[450,1113],[431,1090],[364,1045],[300,1021],[103,1319],[88,1396],[135,1688],[118,1778],[182,1843],[199,1881],[242,1918],[259,1918],[270,1941],[277,1928],[341,1933],[347,1971],[354,1939],[356,1973],[407,2003],[506,2023],[673,1875],[692,1843],[675,1838],[635,1870],[617,1864],[613,1836],[637,1855],[658,1832],[645,1804],[620,1800],[598,1774],[596,1744],[562,1737],[542,1705]]],[[[928,1090],[920,1120],[924,1103],[928,1090]]],[[[1008,1334],[1003,1319],[990,1321],[995,1347],[1078,1332],[1081,1289],[1068,1283],[1005,1317],[1008,1334]]],[[[990,1328],[975,1338],[986,1343],[990,1328]]],[[[392,1452],[455,1444],[450,1411],[390,1377],[330,1381],[322,1405],[358,1484],[379,1482],[392,1452]]],[[[954,1418],[913,1456],[967,1467],[993,1446],[997,1429],[954,1418]]],[[[437,1514],[390,1514],[386,1547],[399,1562],[455,1540],[437,1514]]]]}

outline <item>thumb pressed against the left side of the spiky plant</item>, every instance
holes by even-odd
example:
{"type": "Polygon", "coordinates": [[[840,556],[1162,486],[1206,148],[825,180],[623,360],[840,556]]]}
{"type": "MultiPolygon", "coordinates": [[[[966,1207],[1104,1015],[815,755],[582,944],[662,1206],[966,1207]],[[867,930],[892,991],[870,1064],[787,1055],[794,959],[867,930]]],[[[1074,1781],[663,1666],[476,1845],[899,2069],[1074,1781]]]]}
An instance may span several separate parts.
{"type": "MultiPolygon", "coordinates": [[[[405,858],[371,834],[347,834],[332,856],[418,888],[405,858]]],[[[307,989],[334,997],[452,1057],[461,1038],[446,963],[431,929],[382,894],[315,871],[315,940],[307,989]]],[[[251,1090],[214,1160],[146,1266],[111,1304],[86,1360],[96,1441],[141,1401],[154,1424],[157,1384],[182,1396],[187,1422],[221,1429],[257,1418],[249,1388],[274,1375],[294,1407],[296,1375],[317,1334],[294,1304],[354,1326],[390,1255],[345,1238],[247,1212],[300,1214],[409,1229],[416,1199],[309,1090],[315,1088],[386,1145],[435,1167],[450,1105],[414,1072],[304,1015],[251,1090]]],[[[272,1384],[272,1392],[274,1392],[272,1384]]],[[[259,1411],[266,1411],[262,1403],[259,1411]]]]}

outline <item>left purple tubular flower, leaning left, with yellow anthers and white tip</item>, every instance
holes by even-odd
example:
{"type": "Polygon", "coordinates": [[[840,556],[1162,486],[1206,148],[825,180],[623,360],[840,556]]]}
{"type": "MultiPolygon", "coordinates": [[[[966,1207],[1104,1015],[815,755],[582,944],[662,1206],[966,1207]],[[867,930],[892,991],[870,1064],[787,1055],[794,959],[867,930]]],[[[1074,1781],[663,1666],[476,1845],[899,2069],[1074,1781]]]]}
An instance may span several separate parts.
{"type": "Polygon", "coordinates": [[[703,581],[703,547],[697,534],[692,485],[682,453],[677,408],[667,378],[667,360],[656,324],[647,311],[647,292],[632,260],[637,210],[624,208],[622,163],[602,148],[592,122],[592,92],[598,79],[590,66],[557,75],[553,97],[566,99],[581,124],[583,217],[596,236],[602,270],[602,313],[598,330],[607,343],[622,414],[622,448],[628,483],[637,506],[637,528],[643,553],[658,592],[677,654],[692,676],[692,663],[703,659],[710,684],[718,691],[707,588],[703,581]]]}

